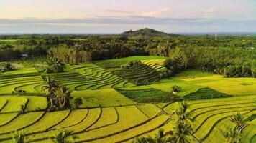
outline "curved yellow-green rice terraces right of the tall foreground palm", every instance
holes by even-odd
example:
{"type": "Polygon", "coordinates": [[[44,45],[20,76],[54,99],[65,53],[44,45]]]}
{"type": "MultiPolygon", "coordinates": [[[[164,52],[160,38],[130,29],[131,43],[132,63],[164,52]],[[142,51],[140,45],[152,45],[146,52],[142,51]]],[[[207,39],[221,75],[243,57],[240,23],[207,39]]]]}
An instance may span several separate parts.
{"type": "MultiPolygon", "coordinates": [[[[232,114],[255,114],[255,100],[256,96],[247,96],[191,102],[190,110],[195,119],[193,134],[201,142],[225,142],[219,129],[224,131],[227,126],[232,125],[228,119],[232,114]]],[[[164,108],[170,114],[173,113],[172,109],[173,104],[164,108]]]]}

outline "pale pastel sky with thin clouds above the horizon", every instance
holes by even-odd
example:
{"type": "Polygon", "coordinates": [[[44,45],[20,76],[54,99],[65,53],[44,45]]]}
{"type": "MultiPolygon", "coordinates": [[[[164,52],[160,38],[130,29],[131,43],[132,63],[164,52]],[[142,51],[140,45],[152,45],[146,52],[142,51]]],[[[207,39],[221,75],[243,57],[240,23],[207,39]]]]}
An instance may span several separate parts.
{"type": "Polygon", "coordinates": [[[256,0],[0,0],[0,33],[255,32],[256,0]]]}

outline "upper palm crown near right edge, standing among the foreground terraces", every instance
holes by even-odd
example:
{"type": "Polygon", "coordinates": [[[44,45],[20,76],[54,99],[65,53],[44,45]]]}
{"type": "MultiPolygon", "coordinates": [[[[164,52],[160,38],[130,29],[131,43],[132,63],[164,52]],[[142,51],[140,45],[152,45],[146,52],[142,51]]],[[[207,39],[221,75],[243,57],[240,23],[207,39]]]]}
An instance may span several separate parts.
{"type": "Polygon", "coordinates": [[[247,118],[244,117],[244,115],[240,112],[237,112],[237,114],[234,114],[232,117],[230,117],[230,121],[233,122],[237,129],[240,130],[247,123],[247,118]]]}

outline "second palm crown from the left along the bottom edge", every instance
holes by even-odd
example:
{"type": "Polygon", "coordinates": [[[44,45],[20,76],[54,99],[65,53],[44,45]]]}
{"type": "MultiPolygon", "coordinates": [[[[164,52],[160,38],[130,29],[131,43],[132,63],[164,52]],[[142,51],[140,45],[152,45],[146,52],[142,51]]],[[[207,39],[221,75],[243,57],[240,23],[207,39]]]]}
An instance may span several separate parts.
{"type": "Polygon", "coordinates": [[[73,131],[60,131],[58,134],[55,134],[54,138],[52,139],[55,143],[71,143],[73,139],[77,137],[72,136],[73,131]]]}

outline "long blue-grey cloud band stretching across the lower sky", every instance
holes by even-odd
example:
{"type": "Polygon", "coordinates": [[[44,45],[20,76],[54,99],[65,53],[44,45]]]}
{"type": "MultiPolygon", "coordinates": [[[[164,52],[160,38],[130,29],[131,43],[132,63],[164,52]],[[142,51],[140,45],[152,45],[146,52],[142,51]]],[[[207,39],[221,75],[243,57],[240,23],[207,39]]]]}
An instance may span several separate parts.
{"type": "Polygon", "coordinates": [[[252,24],[256,19],[247,21],[233,21],[229,19],[172,19],[152,16],[108,16],[87,19],[0,19],[0,26],[24,24],[136,24],[136,25],[216,25],[216,24],[252,24]]]}

